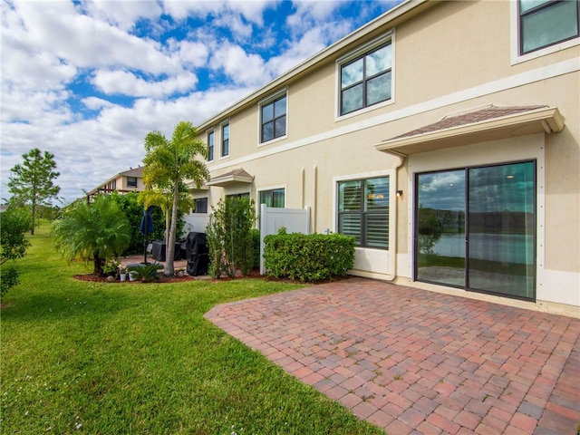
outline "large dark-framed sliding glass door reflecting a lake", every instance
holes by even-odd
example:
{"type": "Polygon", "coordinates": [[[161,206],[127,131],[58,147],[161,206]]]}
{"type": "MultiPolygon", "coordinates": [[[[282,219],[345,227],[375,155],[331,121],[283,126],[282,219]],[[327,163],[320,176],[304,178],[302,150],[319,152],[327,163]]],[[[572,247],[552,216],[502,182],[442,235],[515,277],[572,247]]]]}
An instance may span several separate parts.
{"type": "Polygon", "coordinates": [[[535,162],[418,174],[415,277],[535,298],[535,162]]]}

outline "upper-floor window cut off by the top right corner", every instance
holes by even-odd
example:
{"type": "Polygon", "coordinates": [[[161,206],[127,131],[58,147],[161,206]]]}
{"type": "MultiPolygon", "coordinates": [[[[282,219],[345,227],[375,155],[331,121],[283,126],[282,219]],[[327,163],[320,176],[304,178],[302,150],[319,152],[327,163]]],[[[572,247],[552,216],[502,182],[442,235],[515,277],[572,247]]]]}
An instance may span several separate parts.
{"type": "Polygon", "coordinates": [[[578,37],[580,7],[576,0],[519,0],[519,52],[578,37]]]}

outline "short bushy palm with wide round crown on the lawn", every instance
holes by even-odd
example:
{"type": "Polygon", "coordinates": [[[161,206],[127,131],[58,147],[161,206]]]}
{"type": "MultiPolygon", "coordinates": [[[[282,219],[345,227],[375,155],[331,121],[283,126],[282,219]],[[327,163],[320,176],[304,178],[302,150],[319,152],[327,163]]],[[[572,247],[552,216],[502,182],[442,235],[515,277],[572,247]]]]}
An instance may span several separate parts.
{"type": "Polygon", "coordinates": [[[56,248],[69,260],[93,260],[94,275],[103,275],[108,259],[120,256],[131,244],[131,225],[110,195],[98,195],[92,204],[79,200],[53,223],[56,248]]]}

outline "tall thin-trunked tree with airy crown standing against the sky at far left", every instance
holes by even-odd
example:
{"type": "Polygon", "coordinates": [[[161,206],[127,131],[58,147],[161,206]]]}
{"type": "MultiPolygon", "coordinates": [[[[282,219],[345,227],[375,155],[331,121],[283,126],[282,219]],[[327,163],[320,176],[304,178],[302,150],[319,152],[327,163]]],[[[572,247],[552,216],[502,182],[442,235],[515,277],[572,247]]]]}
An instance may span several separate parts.
{"type": "Polygon", "coordinates": [[[34,218],[36,209],[42,206],[50,206],[50,201],[56,198],[61,188],[55,186],[53,180],[59,175],[56,172],[54,155],[48,151],[44,153],[34,148],[22,155],[23,163],[10,169],[12,174],[8,180],[8,188],[12,193],[14,202],[29,205],[31,208],[30,234],[34,235],[34,218]]]}

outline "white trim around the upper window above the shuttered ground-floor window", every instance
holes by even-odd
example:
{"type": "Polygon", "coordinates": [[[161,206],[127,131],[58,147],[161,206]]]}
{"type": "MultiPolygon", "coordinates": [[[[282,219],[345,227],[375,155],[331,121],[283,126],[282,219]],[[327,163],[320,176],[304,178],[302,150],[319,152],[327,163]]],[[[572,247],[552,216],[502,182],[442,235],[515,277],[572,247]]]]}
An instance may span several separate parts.
{"type": "Polygon", "coordinates": [[[334,113],[335,113],[335,121],[343,121],[353,116],[360,115],[362,113],[366,113],[368,111],[374,111],[380,109],[382,107],[391,105],[395,102],[395,30],[391,29],[385,34],[382,34],[378,38],[373,39],[369,43],[365,43],[358,47],[357,49],[353,50],[350,53],[343,55],[342,57],[338,58],[335,63],[335,98],[334,98],[334,113]],[[380,48],[382,45],[387,45],[391,43],[391,98],[389,100],[385,100],[383,102],[376,102],[371,104],[370,106],[362,107],[356,111],[349,111],[348,113],[341,114],[341,102],[342,102],[342,67],[347,63],[352,63],[357,58],[364,56],[367,53],[371,53],[373,50],[380,48]]]}

